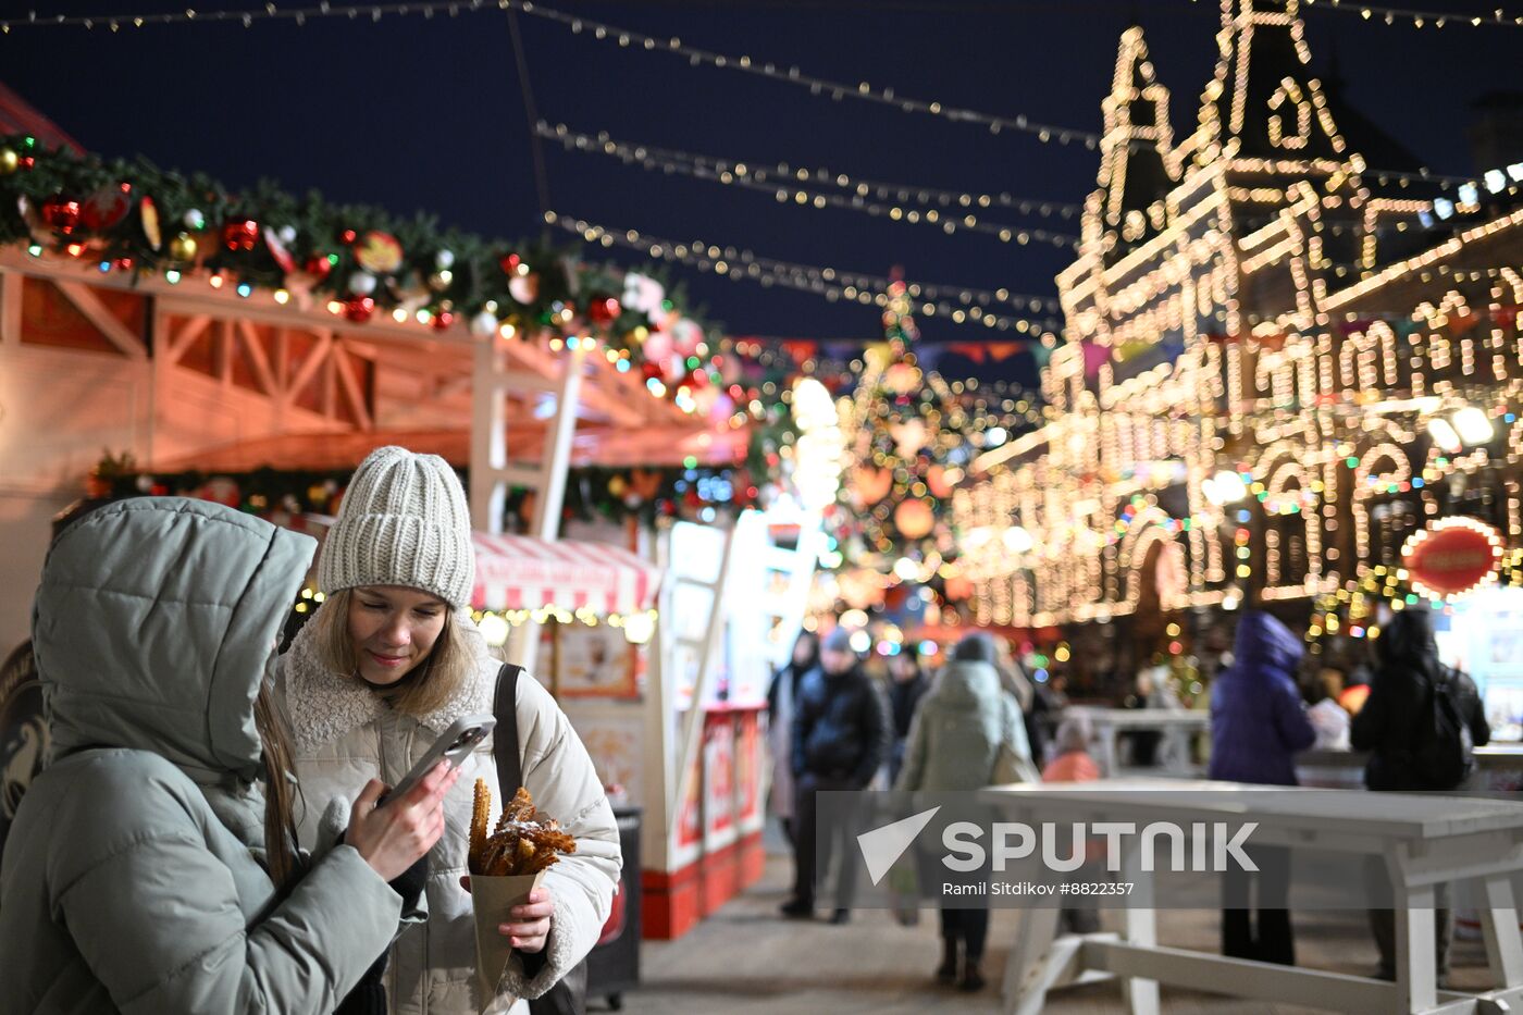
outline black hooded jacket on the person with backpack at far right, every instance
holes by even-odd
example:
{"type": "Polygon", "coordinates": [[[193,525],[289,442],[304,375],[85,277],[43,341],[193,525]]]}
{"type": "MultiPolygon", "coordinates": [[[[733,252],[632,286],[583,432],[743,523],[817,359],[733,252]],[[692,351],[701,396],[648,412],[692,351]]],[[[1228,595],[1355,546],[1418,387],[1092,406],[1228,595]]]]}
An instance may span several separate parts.
{"type": "Polygon", "coordinates": [[[1403,610],[1381,626],[1375,642],[1380,666],[1369,684],[1369,698],[1349,724],[1357,751],[1369,751],[1365,785],[1369,789],[1454,789],[1432,786],[1416,771],[1419,738],[1432,738],[1429,703],[1436,680],[1454,681],[1461,721],[1470,727],[1473,747],[1491,742],[1491,725],[1474,681],[1438,660],[1433,620],[1427,610],[1403,610]],[[1422,728],[1427,722],[1427,730],[1422,728]]]}

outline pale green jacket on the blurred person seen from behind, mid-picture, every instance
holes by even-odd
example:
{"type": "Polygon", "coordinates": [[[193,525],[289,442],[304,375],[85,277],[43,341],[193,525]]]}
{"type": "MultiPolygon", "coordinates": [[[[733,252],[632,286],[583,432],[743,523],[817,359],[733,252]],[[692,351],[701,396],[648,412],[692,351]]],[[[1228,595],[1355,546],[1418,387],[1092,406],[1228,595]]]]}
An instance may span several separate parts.
{"type": "Polygon", "coordinates": [[[896,789],[947,792],[993,782],[999,748],[1031,759],[1020,706],[990,663],[952,661],[920,700],[896,789]]]}

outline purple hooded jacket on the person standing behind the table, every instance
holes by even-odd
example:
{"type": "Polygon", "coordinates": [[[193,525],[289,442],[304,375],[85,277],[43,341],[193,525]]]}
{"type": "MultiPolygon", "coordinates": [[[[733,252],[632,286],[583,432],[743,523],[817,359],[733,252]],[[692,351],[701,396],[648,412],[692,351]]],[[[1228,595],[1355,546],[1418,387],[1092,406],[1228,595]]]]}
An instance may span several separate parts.
{"type": "Polygon", "coordinates": [[[1211,777],[1295,786],[1298,751],[1317,739],[1296,690],[1301,639],[1267,613],[1238,620],[1234,661],[1211,689],[1211,777]]]}

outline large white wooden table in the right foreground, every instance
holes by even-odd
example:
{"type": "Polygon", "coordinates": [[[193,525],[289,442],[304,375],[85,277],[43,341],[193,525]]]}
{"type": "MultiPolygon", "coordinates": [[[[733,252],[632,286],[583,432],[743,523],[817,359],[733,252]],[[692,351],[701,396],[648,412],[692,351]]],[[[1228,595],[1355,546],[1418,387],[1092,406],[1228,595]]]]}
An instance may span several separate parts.
{"type": "Polygon", "coordinates": [[[1167,948],[1157,943],[1151,875],[1133,844],[1122,855],[1122,881],[1135,882],[1136,908],[1124,910],[1118,934],[1057,936],[1055,908],[1025,911],[1023,931],[1005,969],[1005,1007],[1037,1015],[1046,992],[1071,983],[1122,977],[1133,1015],[1156,1015],[1159,983],[1336,1012],[1459,1015],[1523,1006],[1523,940],[1511,878],[1523,870],[1523,803],[1511,800],[1284,789],[1228,782],[1183,785],[1174,779],[1104,779],[1090,783],[993,786],[982,797],[1005,815],[1027,820],[1258,821],[1253,844],[1383,855],[1395,892],[1397,980],[1278,966],[1167,948]],[[1244,814],[1244,791],[1264,802],[1244,814]],[[1220,799],[1214,799],[1220,797],[1220,799]],[[1023,817],[1025,815],[1025,817],[1023,817]],[[1482,930],[1494,974],[1488,994],[1439,991],[1433,962],[1433,890],[1450,881],[1482,885],[1482,930]]]}

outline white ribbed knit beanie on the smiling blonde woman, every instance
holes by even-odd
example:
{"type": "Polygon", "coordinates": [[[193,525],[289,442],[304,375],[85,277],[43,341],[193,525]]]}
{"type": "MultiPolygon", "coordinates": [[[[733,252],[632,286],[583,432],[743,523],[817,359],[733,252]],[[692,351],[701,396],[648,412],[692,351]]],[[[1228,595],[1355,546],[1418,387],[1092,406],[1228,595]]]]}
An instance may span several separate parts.
{"type": "Polygon", "coordinates": [[[449,463],[407,448],[372,451],[323,540],[317,584],[324,593],[405,585],[468,608],[475,585],[471,512],[449,463]]]}

